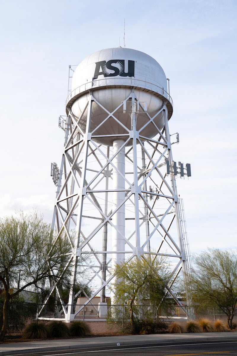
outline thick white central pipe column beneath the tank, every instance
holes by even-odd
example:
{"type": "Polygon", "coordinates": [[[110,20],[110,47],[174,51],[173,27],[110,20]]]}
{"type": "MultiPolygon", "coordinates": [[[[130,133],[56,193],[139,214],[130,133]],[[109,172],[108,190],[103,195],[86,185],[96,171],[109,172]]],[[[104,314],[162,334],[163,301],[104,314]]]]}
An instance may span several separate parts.
{"type": "MultiPolygon", "coordinates": [[[[113,141],[113,154],[117,155],[113,158],[113,164],[118,169],[113,169],[113,208],[112,211],[125,199],[125,148],[121,148],[124,144],[123,140],[113,141]]],[[[116,227],[112,229],[112,269],[116,264],[124,261],[125,241],[125,206],[124,204],[113,214],[112,223],[116,227]]]]}

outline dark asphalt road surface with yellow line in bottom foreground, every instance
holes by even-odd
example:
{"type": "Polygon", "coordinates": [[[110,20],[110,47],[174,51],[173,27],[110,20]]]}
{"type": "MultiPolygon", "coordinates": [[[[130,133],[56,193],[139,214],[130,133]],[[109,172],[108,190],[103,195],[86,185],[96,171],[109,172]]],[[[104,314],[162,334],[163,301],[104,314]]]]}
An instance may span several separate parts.
{"type": "Polygon", "coordinates": [[[173,345],[96,347],[63,352],[39,352],[28,356],[237,356],[237,341],[189,342],[173,345]]]}

